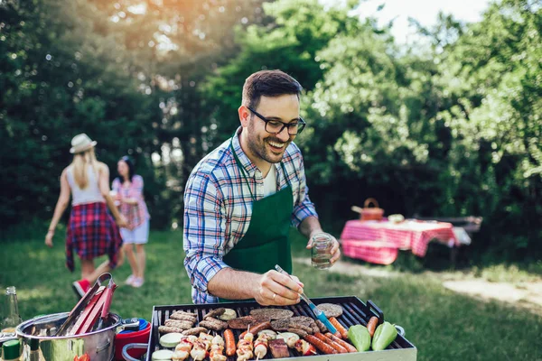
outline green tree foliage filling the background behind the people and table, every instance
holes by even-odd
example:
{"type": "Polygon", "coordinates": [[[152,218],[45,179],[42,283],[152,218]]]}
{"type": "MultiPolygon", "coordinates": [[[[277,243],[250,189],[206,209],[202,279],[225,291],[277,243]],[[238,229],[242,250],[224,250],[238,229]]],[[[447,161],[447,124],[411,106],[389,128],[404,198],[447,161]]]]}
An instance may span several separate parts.
{"type": "Polygon", "coordinates": [[[238,126],[245,79],[283,69],[305,88],[309,125],[296,143],[324,223],[341,227],[351,205],[376,197],[387,214],[483,216],[481,255],[540,255],[536,1],[492,3],[479,23],[413,21],[423,39],[410,47],[391,23],[351,16],[357,1],[0,4],[8,224],[51,216],[70,138],[83,131],[112,169],[135,157],[155,227],[179,221],[192,167],[238,126]]]}

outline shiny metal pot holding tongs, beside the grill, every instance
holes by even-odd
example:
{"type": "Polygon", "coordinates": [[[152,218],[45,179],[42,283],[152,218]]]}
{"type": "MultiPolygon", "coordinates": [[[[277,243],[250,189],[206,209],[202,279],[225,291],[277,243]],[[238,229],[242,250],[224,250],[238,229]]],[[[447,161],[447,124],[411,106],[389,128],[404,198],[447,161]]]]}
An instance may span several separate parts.
{"type": "Polygon", "coordinates": [[[115,313],[109,317],[102,329],[75,336],[55,337],[55,333],[68,318],[69,312],[56,313],[29,319],[17,326],[17,337],[21,340],[24,361],[71,361],[76,356],[88,355],[92,361],[111,361],[115,355],[115,335],[123,322],[115,313]],[[32,349],[32,357],[31,357],[32,349]]]}

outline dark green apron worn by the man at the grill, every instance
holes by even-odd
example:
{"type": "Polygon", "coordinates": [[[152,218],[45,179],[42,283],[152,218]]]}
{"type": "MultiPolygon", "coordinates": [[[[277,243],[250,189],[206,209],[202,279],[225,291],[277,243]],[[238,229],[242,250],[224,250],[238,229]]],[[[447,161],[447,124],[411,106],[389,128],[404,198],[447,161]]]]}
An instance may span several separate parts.
{"type": "MultiPolygon", "coordinates": [[[[231,142],[229,146],[250,190],[245,169],[231,142]]],[[[282,162],[280,165],[287,181],[285,165],[282,162]]],[[[287,273],[292,273],[292,253],[288,233],[294,210],[294,199],[290,182],[288,181],[288,186],[284,189],[263,199],[256,200],[252,190],[250,190],[250,195],[252,196],[252,217],[247,234],[238,241],[228,255],[224,256],[224,262],[235,269],[253,273],[266,273],[278,264],[287,273]]]]}

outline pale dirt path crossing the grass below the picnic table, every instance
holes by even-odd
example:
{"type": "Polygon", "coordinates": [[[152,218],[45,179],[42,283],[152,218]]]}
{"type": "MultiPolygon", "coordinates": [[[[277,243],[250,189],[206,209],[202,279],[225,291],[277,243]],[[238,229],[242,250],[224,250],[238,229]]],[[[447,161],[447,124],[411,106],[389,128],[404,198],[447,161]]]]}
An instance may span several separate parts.
{"type": "MultiPolygon", "coordinates": [[[[311,264],[310,259],[296,258],[300,264],[311,264]]],[[[332,272],[348,274],[352,276],[366,275],[370,277],[399,277],[402,273],[388,271],[363,264],[352,264],[339,261],[333,265],[332,272]]],[[[482,278],[474,278],[458,273],[423,273],[429,277],[435,277],[442,282],[443,286],[453,292],[463,293],[481,300],[497,300],[508,302],[516,306],[542,314],[542,281],[537,282],[489,282],[482,278]],[[451,277],[452,276],[452,277],[451,277]],[[453,279],[451,279],[453,278],[453,279]],[[461,279],[457,279],[461,278],[461,279]]]]}

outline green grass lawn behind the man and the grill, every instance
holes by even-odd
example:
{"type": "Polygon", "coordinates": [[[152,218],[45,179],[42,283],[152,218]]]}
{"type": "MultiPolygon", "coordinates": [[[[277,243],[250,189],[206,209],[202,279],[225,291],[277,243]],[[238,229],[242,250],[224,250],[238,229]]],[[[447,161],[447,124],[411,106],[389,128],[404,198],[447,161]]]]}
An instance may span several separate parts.
{"type": "MultiPolygon", "coordinates": [[[[52,249],[43,245],[42,236],[32,233],[18,234],[21,238],[11,235],[0,243],[0,286],[17,287],[23,319],[71,310],[76,298],[70,282],[79,276],[79,269],[71,274],[64,266],[61,231],[52,249]]],[[[294,256],[308,257],[303,238],[293,235],[294,256]]],[[[146,250],[145,285],[134,289],[121,284],[115,292],[111,308],[123,318],[151,319],[153,305],[192,302],[182,265],[182,233],[152,232],[146,250]]],[[[516,271],[496,268],[480,272],[509,279],[516,271]]],[[[128,264],[124,264],[113,275],[122,283],[129,273],[128,264]]],[[[375,301],[386,319],[406,329],[406,338],[418,348],[420,361],[542,360],[540,316],[501,302],[458,295],[444,289],[431,274],[352,277],[316,271],[301,263],[294,264],[294,274],[304,282],[309,297],[355,295],[362,301],[375,301]]]]}

